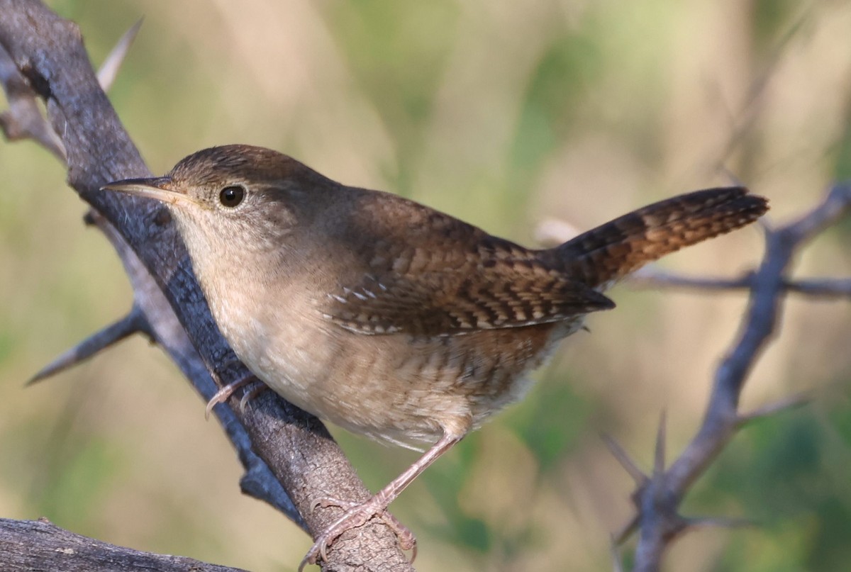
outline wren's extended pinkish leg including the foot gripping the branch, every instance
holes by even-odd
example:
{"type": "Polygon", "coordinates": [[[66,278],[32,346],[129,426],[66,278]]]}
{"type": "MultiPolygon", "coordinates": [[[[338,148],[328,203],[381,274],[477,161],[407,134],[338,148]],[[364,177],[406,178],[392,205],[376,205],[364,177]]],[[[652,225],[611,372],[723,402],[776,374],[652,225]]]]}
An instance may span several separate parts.
{"type": "MultiPolygon", "coordinates": [[[[437,443],[431,446],[420,459],[413,465],[409,466],[405,472],[394,478],[390,484],[384,489],[381,489],[373,495],[368,501],[363,503],[353,503],[349,501],[339,501],[337,499],[323,498],[312,503],[316,506],[341,506],[346,508],[346,513],[332,523],[323,533],[317,536],[316,542],[307,551],[305,558],[299,565],[299,572],[304,569],[306,564],[315,564],[321,558],[327,561],[328,546],[334,543],[334,540],[348,529],[355,529],[363,526],[370,518],[379,515],[385,520],[388,526],[396,533],[399,540],[399,545],[403,550],[413,550],[413,556],[416,556],[416,539],[410,530],[400,523],[395,517],[387,513],[387,506],[402,493],[402,491],[413,483],[414,479],[420,476],[420,473],[425,471],[428,466],[437,460],[440,455],[452,449],[455,443],[461,440],[462,435],[443,434],[437,443]]],[[[413,557],[411,560],[413,561],[413,557]]]]}

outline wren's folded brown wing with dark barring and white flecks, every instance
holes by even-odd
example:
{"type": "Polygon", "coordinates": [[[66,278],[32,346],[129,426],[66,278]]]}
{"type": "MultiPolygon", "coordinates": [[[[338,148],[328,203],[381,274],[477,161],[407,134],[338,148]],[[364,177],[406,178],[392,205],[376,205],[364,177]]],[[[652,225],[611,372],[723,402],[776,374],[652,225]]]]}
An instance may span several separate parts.
{"type": "Polygon", "coordinates": [[[368,274],[340,287],[328,302],[326,315],[334,323],[368,335],[460,335],[560,322],[614,307],[597,290],[527,260],[368,274]]]}

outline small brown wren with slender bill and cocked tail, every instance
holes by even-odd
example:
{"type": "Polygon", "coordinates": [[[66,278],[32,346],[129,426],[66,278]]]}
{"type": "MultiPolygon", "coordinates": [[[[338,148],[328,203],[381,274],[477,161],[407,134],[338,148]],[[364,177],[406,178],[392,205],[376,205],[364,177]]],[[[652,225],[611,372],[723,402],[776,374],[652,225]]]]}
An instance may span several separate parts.
{"type": "MultiPolygon", "coordinates": [[[[714,188],[552,249],[526,249],[243,145],[205,149],[163,177],[104,189],[168,205],[222,335],[271,389],[351,432],[428,447],[365,503],[323,501],[347,510],[302,566],[347,529],[390,518],[388,504],[420,472],[523,398],[528,374],[557,342],[586,314],[614,307],[603,295],[609,286],[768,210],[743,187],[714,188]]],[[[403,547],[414,547],[401,530],[403,547]]]]}

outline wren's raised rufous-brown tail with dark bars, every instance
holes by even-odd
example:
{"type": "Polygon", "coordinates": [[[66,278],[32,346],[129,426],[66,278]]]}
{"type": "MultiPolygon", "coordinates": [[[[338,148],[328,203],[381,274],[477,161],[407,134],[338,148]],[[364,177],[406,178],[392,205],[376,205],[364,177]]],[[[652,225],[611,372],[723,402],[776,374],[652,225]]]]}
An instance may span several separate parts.
{"type": "Polygon", "coordinates": [[[689,192],[583,232],[552,251],[569,272],[605,289],[648,262],[749,225],[767,210],[768,200],[741,186],[689,192]]]}

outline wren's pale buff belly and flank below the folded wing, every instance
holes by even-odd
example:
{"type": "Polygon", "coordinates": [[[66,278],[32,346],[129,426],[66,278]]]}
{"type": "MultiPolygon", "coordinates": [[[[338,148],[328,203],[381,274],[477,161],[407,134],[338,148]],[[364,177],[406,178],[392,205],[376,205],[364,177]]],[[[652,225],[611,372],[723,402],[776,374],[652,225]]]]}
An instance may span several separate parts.
{"type": "Polygon", "coordinates": [[[293,307],[310,306],[278,306],[260,317],[220,306],[214,315],[237,357],[290,403],[404,446],[444,432],[463,436],[522,398],[528,373],[570,333],[545,324],[429,338],[361,335],[318,312],[294,315],[293,307]]]}

